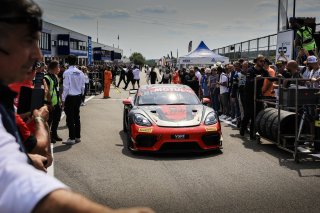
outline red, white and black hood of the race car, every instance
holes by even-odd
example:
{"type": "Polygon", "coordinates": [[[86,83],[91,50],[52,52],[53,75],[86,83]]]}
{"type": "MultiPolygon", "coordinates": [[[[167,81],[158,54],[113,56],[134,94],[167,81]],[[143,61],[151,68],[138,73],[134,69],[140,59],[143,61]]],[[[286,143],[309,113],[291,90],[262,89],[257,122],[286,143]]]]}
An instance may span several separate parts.
{"type": "Polygon", "coordinates": [[[201,123],[203,105],[159,105],[139,107],[157,125],[162,127],[198,126],[201,123]]]}

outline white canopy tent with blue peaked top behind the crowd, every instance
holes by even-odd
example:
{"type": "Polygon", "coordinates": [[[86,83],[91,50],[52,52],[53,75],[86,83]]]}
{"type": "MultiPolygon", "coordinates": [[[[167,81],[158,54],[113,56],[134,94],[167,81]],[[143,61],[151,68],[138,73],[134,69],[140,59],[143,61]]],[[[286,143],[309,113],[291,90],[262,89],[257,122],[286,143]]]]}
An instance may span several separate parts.
{"type": "Polygon", "coordinates": [[[179,64],[222,64],[229,63],[229,58],[212,52],[207,45],[201,41],[199,46],[185,56],[179,57],[179,64]]]}

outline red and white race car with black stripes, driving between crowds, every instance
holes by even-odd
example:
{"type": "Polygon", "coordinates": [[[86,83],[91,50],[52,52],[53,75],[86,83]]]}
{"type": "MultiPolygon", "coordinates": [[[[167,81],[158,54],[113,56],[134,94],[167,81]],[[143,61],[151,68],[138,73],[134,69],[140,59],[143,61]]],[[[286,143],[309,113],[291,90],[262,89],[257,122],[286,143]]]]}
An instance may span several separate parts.
{"type": "Polygon", "coordinates": [[[123,101],[123,130],[131,151],[222,149],[216,112],[186,85],[144,85],[123,101]]]}

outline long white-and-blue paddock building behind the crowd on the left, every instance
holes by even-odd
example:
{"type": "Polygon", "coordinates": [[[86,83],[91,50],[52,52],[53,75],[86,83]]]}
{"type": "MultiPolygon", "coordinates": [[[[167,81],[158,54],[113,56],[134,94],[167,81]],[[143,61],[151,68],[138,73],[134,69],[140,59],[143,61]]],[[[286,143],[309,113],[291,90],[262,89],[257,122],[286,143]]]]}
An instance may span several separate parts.
{"type": "Polygon", "coordinates": [[[43,22],[39,47],[46,63],[55,59],[64,64],[68,55],[75,55],[78,58],[79,65],[88,65],[94,62],[101,64],[121,59],[123,54],[123,50],[121,49],[92,42],[91,37],[88,35],[47,21],[43,22]],[[95,52],[97,58],[94,61],[95,52]]]}

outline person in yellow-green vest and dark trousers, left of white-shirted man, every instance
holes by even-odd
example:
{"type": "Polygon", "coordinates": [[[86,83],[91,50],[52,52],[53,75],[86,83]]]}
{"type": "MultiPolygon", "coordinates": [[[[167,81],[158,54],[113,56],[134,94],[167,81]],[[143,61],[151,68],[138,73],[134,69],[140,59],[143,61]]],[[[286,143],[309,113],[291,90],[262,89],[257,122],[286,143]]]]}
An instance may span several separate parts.
{"type": "Polygon", "coordinates": [[[48,65],[48,73],[44,76],[44,79],[48,86],[48,103],[50,107],[50,114],[48,125],[50,127],[51,143],[56,143],[56,141],[62,141],[62,138],[58,136],[58,126],[61,117],[61,96],[59,87],[58,74],[60,72],[59,62],[51,61],[48,65]]]}

